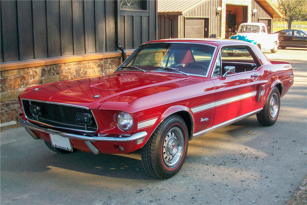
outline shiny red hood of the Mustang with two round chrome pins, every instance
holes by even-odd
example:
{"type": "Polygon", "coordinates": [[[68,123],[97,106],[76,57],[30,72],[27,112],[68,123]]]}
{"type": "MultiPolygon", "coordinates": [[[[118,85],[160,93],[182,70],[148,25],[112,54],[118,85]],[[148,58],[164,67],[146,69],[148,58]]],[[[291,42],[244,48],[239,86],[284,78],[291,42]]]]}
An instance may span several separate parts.
{"type": "MultiPolygon", "coordinates": [[[[110,75],[60,81],[27,89],[19,97],[85,106],[97,109],[102,103],[140,90],[175,84],[188,79],[181,74],[115,72],[110,75]],[[37,89],[35,91],[34,89],[37,89]],[[94,96],[99,95],[95,98],[94,96]]],[[[146,92],[145,92],[146,93],[146,92]]]]}

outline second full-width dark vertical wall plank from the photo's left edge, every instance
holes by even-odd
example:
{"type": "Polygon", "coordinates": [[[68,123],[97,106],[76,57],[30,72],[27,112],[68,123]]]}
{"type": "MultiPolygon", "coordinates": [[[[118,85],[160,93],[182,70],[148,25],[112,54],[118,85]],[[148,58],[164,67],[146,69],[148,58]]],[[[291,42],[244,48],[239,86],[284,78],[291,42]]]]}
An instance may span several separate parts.
{"type": "Polygon", "coordinates": [[[17,1],[19,59],[33,59],[33,24],[31,1],[17,1]]]}

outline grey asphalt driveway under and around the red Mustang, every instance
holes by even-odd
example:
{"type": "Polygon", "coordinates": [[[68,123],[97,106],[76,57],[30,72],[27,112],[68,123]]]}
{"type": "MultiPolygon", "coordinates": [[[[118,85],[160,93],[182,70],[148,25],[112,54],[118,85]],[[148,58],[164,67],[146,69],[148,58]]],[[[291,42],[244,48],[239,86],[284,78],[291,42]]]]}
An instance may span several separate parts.
{"type": "Polygon", "coordinates": [[[273,126],[251,116],[190,141],[181,171],[167,180],[148,176],[139,152],[60,155],[24,128],[6,129],[0,203],[284,204],[307,173],[307,50],[265,54],[294,71],[273,126]]]}

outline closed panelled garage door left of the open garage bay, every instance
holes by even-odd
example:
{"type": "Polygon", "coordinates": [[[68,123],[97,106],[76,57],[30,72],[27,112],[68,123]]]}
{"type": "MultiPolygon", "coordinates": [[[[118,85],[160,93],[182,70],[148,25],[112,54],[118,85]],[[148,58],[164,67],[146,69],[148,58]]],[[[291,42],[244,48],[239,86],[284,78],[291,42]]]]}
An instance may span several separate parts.
{"type": "Polygon", "coordinates": [[[185,19],[185,37],[186,38],[204,38],[208,37],[208,26],[205,26],[205,19],[186,18],[185,19]]]}

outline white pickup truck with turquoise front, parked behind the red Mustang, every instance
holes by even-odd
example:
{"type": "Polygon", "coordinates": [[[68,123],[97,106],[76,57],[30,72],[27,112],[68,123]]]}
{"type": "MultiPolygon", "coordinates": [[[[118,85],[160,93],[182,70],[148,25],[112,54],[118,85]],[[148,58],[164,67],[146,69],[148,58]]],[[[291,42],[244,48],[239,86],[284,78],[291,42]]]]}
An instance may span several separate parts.
{"type": "Polygon", "coordinates": [[[242,23],[230,39],[251,42],[262,51],[271,50],[276,53],[278,49],[278,34],[268,34],[264,23],[242,23]]]}

